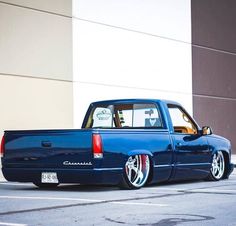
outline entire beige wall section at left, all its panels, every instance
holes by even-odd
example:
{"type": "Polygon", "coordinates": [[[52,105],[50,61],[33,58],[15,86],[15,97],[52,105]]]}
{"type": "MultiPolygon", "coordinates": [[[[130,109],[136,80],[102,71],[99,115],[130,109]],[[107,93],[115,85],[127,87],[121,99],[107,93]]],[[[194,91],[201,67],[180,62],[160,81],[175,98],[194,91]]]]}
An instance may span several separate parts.
{"type": "Polygon", "coordinates": [[[73,127],[72,3],[0,2],[0,134],[73,127]]]}

